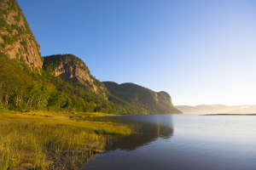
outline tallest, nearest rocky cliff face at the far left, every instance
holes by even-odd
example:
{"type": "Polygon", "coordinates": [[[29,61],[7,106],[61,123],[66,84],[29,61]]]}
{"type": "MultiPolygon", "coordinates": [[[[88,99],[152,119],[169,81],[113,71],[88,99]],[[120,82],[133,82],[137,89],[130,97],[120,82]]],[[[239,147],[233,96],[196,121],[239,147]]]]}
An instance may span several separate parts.
{"type": "Polygon", "coordinates": [[[32,70],[43,65],[38,42],[15,0],[0,0],[0,54],[21,60],[32,70]]]}

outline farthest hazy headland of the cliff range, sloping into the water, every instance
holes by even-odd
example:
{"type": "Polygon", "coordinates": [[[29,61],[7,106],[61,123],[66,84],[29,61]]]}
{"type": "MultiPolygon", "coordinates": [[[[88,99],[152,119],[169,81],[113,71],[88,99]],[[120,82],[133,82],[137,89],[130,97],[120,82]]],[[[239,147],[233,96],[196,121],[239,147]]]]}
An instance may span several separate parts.
{"type": "Polygon", "coordinates": [[[147,110],[148,113],[181,113],[172,105],[171,96],[166,92],[156,93],[134,83],[103,83],[111,94],[131,105],[147,110]]]}

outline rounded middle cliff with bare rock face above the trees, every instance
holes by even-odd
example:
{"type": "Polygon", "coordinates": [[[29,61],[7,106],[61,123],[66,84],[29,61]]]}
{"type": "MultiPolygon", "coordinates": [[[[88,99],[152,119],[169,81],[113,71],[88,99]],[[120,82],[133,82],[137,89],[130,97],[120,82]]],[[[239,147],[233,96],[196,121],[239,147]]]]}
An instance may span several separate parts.
{"type": "Polygon", "coordinates": [[[92,93],[106,96],[107,89],[102,82],[91,76],[82,59],[73,54],[58,54],[44,57],[43,69],[64,81],[78,82],[92,93]]]}

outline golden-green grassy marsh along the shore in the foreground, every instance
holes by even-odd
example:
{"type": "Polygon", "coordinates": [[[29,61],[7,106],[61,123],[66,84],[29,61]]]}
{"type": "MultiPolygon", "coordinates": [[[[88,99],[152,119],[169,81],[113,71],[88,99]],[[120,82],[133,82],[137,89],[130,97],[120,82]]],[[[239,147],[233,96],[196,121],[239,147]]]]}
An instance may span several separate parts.
{"type": "Polygon", "coordinates": [[[0,111],[0,169],[79,169],[131,127],[103,113],[0,111]]]}

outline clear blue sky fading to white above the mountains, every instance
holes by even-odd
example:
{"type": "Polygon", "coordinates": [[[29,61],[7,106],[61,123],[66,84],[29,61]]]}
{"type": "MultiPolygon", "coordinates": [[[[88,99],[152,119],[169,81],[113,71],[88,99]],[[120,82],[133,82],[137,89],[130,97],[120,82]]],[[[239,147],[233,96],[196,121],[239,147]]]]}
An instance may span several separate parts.
{"type": "Polygon", "coordinates": [[[256,104],[254,0],[18,0],[43,55],[175,105],[256,104]]]}

